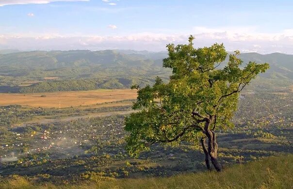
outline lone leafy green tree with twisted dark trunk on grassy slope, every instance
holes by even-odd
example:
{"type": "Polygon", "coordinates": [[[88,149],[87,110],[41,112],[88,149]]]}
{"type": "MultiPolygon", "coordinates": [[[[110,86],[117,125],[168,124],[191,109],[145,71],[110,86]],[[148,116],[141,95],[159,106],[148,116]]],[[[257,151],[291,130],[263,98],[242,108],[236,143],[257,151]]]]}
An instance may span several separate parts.
{"type": "Polygon", "coordinates": [[[233,126],[240,92],[269,65],[249,62],[240,68],[243,61],[235,51],[219,69],[228,55],[223,44],[194,48],[193,40],[190,36],[187,45],[167,45],[163,67],[172,69],[169,83],[157,77],[152,87],[132,86],[138,90],[133,109],[140,111],[125,119],[126,149],[136,156],[155,143],[200,142],[207,168],[212,169],[211,161],[220,172],[216,130],[233,126]]]}

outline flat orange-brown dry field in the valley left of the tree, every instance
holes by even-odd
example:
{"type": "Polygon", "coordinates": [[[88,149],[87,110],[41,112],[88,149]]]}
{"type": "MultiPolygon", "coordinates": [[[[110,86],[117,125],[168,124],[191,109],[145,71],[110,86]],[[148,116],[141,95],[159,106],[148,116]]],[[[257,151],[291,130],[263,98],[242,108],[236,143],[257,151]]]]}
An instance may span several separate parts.
{"type": "Polygon", "coordinates": [[[35,94],[7,94],[0,93],[0,105],[18,104],[22,106],[61,108],[91,106],[98,103],[113,102],[126,99],[135,99],[136,91],[130,89],[116,90],[95,90],[95,91],[74,91],[54,92],[35,94]],[[44,97],[41,97],[45,95],[44,97]]]}

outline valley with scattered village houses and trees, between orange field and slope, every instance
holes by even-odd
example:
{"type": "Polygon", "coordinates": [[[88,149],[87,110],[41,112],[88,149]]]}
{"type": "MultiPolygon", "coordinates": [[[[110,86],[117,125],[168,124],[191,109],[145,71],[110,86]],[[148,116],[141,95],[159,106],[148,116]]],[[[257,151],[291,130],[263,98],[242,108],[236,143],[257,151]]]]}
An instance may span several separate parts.
{"type": "MultiPolygon", "coordinates": [[[[292,153],[292,94],[285,97],[259,93],[244,96],[240,98],[239,108],[233,118],[235,127],[227,133],[220,132],[218,136],[222,163],[229,165],[239,163],[239,158],[241,162],[248,162],[292,153]]],[[[68,172],[62,179],[78,180],[81,177],[85,179],[92,171],[123,178],[204,170],[201,161],[203,152],[188,143],[174,147],[153,146],[151,152],[142,153],[138,158],[130,157],[125,151],[124,141],[127,134],[124,131],[124,118],[130,109],[130,105],[88,107],[82,111],[74,108],[0,107],[0,116],[3,118],[0,130],[0,173],[6,175],[20,169],[23,170],[20,173],[26,174],[39,167],[34,176],[49,174],[51,179],[58,180],[54,170],[59,170],[68,172]],[[105,113],[99,114],[101,112],[105,113]],[[77,117],[68,119],[65,113],[77,117]],[[93,116],[93,113],[99,116],[93,116]],[[37,119],[33,123],[32,120],[42,116],[53,121],[37,123],[42,122],[37,119]],[[81,166],[74,174],[70,172],[73,165],[81,166]]]]}

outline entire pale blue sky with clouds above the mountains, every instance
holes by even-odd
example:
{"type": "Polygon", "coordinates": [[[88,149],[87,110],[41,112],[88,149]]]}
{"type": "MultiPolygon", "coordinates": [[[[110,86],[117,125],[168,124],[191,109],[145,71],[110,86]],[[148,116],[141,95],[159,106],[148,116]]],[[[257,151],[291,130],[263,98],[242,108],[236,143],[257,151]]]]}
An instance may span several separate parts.
{"type": "Polygon", "coordinates": [[[293,54],[293,0],[0,0],[0,49],[133,49],[224,43],[293,54]]]}

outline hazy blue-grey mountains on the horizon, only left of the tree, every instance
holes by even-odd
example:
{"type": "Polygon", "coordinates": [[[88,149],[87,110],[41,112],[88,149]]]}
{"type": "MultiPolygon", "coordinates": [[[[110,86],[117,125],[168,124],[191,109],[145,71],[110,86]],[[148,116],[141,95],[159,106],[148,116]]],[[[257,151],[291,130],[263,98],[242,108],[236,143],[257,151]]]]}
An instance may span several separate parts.
{"type": "Polygon", "coordinates": [[[16,69],[60,69],[76,67],[110,66],[150,66],[156,59],[162,59],[157,53],[124,54],[115,50],[69,50],[69,51],[30,51],[0,55],[1,70],[16,69]],[[151,54],[153,56],[151,56],[151,54]]]}

